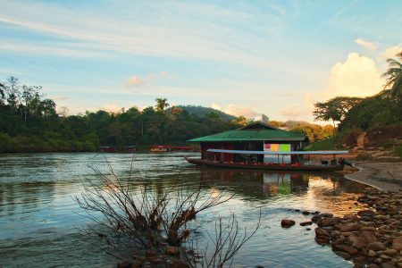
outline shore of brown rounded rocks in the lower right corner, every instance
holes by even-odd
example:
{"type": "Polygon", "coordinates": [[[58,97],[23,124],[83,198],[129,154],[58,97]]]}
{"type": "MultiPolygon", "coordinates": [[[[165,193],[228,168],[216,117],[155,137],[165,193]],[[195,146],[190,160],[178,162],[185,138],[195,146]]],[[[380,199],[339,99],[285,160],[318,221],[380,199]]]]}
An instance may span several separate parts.
{"type": "Polygon", "coordinates": [[[357,202],[367,209],[343,217],[314,214],[315,241],[354,267],[402,268],[402,191],[370,189],[357,202]]]}

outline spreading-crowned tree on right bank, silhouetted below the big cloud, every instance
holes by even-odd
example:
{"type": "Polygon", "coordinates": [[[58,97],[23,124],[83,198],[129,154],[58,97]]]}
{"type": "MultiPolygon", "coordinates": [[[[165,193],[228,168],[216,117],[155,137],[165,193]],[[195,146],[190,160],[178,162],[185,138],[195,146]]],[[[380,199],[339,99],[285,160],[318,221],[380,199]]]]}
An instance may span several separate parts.
{"type": "Polygon", "coordinates": [[[314,120],[331,120],[335,129],[335,121],[343,121],[348,111],[362,100],[362,98],[356,96],[336,96],[327,102],[315,103],[314,120]]]}

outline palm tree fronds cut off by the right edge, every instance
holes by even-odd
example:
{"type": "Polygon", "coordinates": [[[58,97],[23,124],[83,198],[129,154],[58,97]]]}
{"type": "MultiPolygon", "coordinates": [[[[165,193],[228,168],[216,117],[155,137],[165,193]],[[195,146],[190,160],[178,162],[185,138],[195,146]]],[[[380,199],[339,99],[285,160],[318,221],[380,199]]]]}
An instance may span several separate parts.
{"type": "Polygon", "coordinates": [[[388,59],[388,70],[382,74],[387,79],[384,89],[389,88],[389,95],[400,99],[402,97],[402,52],[396,54],[398,60],[388,59]]]}

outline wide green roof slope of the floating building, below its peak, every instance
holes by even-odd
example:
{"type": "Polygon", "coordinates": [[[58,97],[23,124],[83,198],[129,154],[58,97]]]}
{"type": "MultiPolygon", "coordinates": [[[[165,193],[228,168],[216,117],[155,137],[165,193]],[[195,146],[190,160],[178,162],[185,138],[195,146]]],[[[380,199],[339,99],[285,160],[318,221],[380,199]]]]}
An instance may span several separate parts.
{"type": "Polygon", "coordinates": [[[188,139],[188,141],[247,141],[247,140],[272,140],[272,141],[303,141],[306,137],[302,134],[286,130],[230,130],[200,138],[188,139]]]}

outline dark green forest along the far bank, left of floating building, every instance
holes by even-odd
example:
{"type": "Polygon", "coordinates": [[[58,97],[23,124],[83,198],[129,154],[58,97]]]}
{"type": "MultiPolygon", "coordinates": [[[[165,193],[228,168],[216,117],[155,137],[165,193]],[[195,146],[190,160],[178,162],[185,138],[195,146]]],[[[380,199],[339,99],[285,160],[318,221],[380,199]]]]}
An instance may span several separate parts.
{"type": "Polygon", "coordinates": [[[100,146],[183,145],[188,138],[238,128],[237,119],[217,113],[190,114],[156,99],[143,111],[97,111],[67,116],[56,113],[54,101],[40,87],[21,85],[11,77],[0,84],[0,152],[80,152],[100,146]]]}

